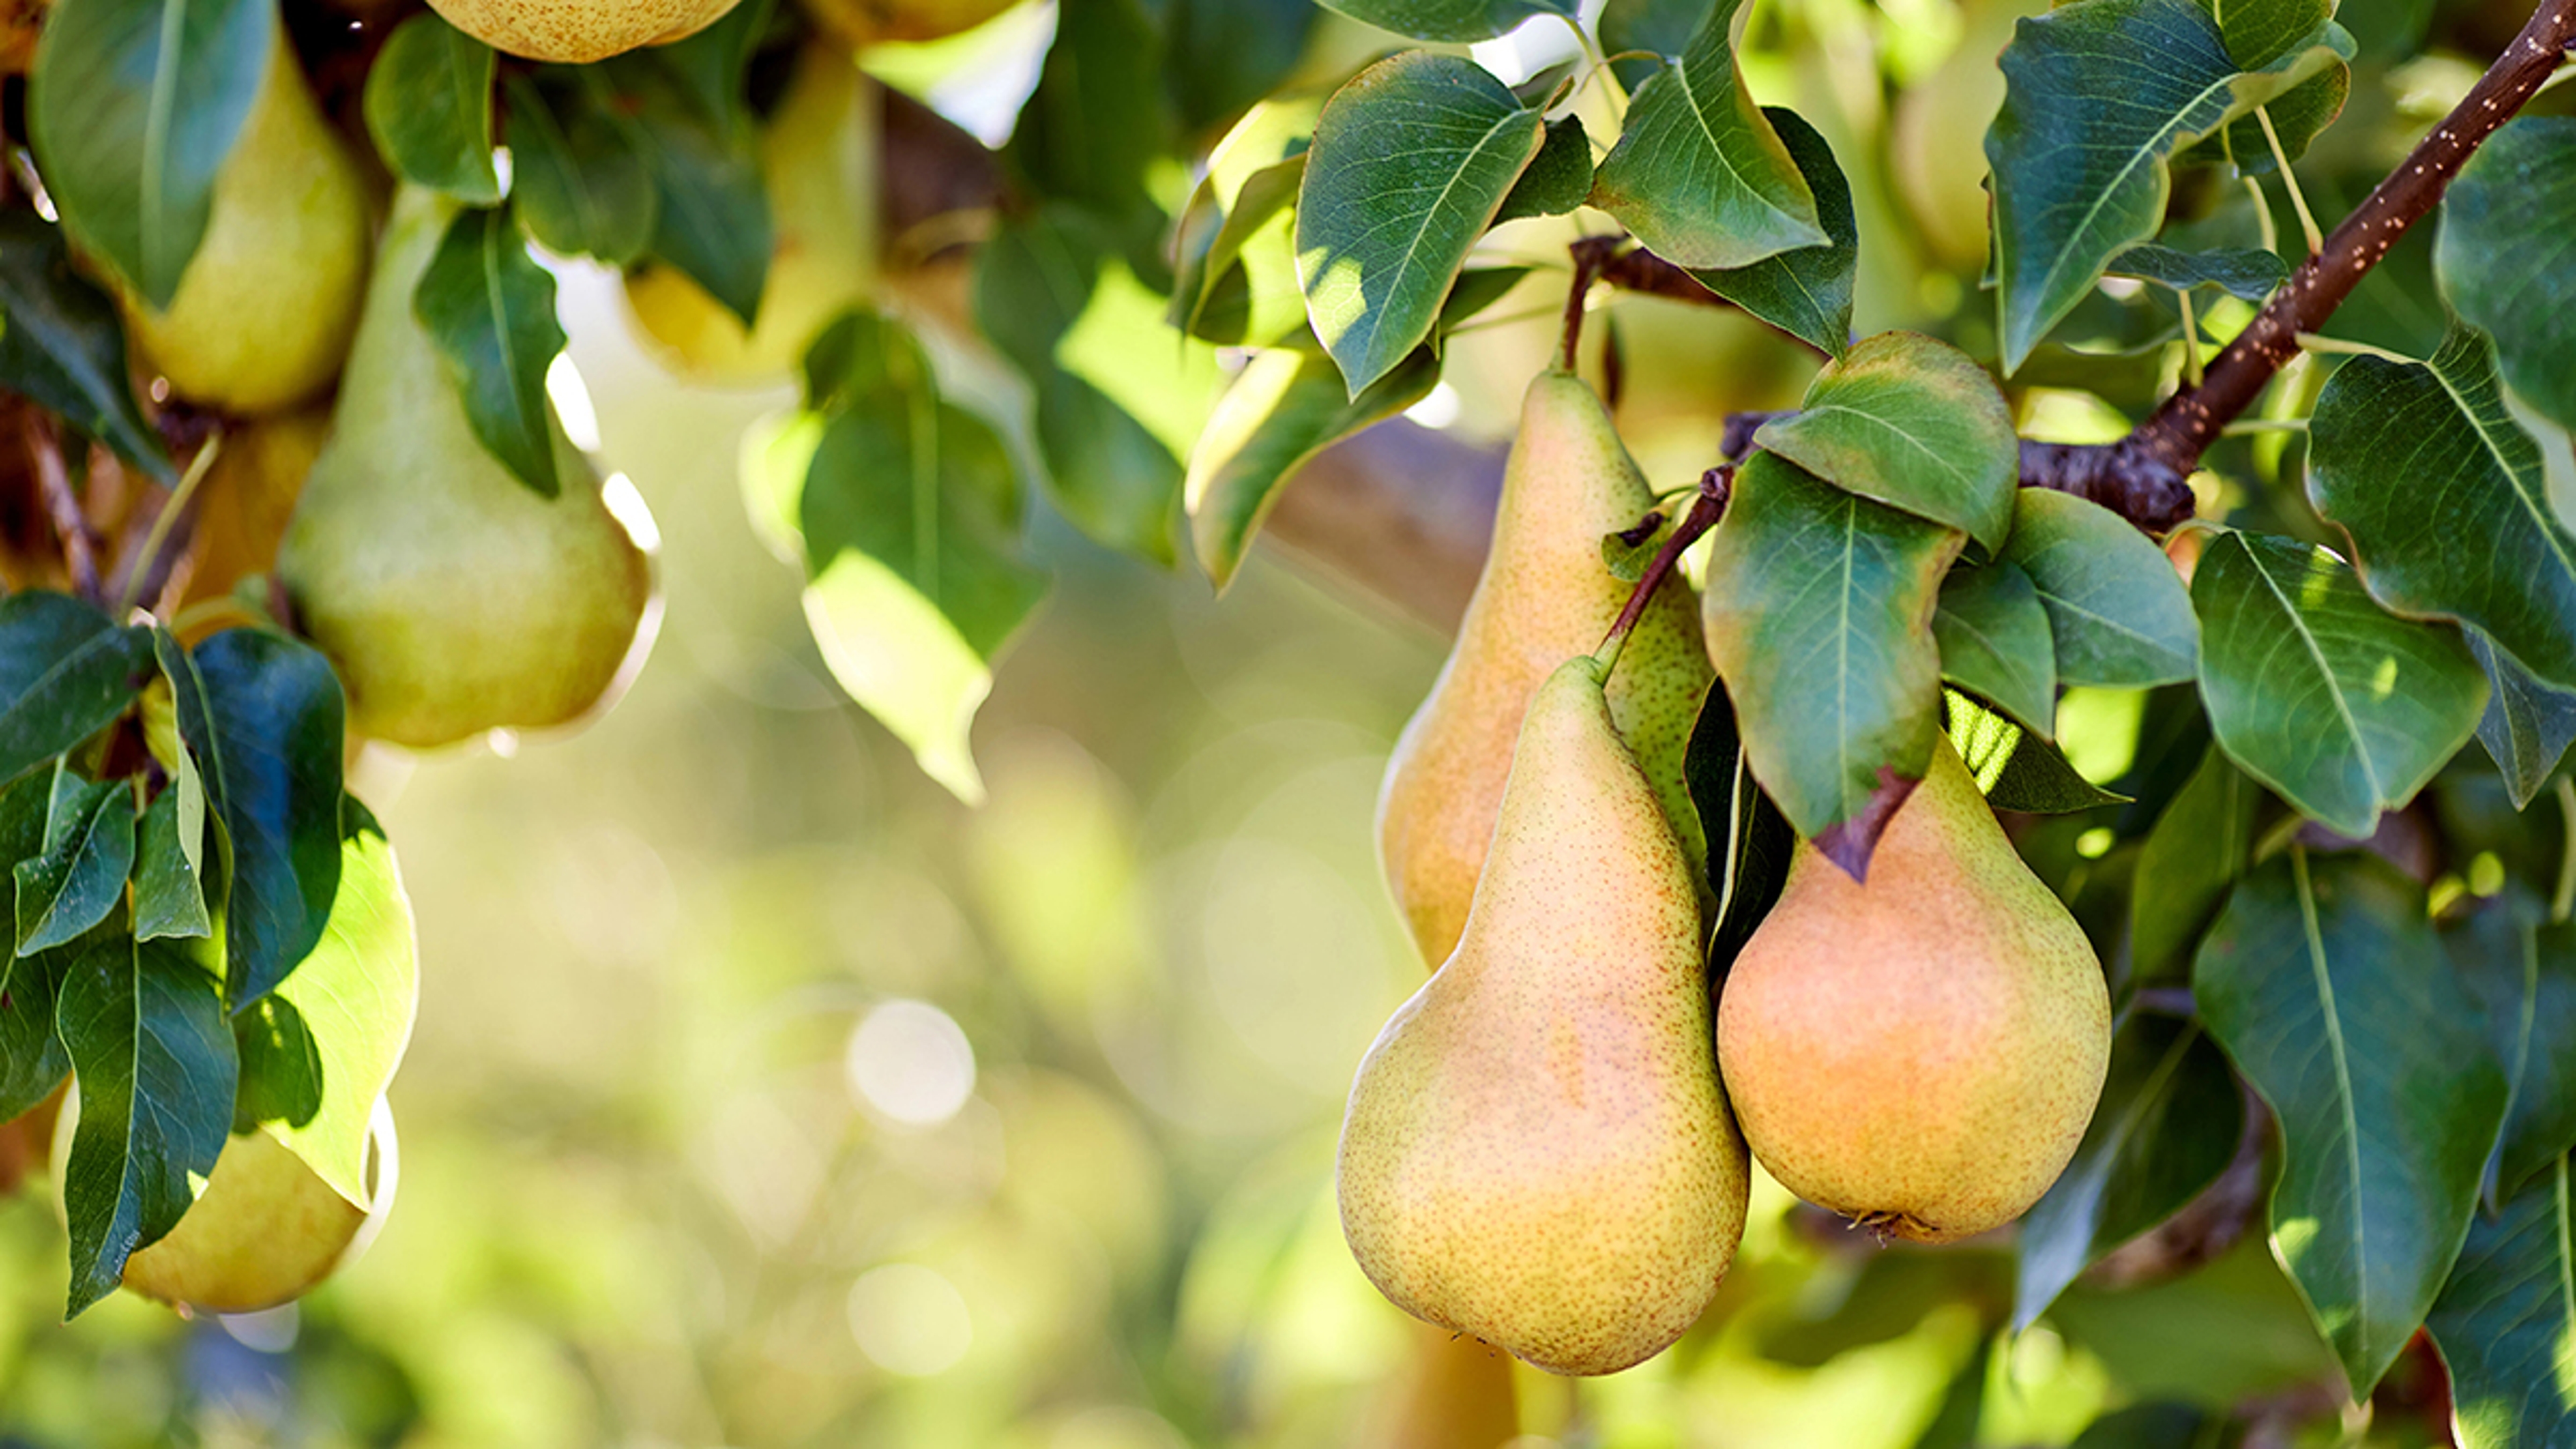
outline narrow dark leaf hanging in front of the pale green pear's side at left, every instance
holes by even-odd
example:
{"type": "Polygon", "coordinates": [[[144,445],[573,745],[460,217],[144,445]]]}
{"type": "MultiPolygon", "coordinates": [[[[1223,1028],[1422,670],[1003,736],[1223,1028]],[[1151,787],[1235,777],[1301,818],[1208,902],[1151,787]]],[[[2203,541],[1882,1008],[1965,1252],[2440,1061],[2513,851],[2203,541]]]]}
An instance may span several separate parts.
{"type": "Polygon", "coordinates": [[[536,266],[497,206],[448,222],[412,291],[412,315],[438,345],[484,451],[538,498],[562,492],[546,402],[546,369],[564,351],[554,273],[536,266]]]}

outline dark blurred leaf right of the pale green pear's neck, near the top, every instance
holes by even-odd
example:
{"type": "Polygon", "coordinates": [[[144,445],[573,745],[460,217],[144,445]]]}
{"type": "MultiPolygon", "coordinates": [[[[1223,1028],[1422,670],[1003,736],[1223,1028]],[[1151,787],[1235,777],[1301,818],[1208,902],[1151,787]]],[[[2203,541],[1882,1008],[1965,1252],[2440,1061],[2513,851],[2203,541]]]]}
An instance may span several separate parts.
{"type": "Polygon", "coordinates": [[[598,83],[513,75],[510,211],[536,245],[629,266],[654,240],[659,193],[636,137],[595,103],[598,83]]]}

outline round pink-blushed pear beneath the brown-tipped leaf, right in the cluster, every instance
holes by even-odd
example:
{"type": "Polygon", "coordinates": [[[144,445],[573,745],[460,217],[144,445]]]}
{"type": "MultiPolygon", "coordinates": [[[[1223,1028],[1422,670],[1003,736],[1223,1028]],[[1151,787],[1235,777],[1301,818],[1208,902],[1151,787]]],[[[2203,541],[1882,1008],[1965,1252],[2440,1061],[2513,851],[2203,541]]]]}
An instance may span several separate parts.
{"type": "Polygon", "coordinates": [[[1947,740],[1868,884],[1798,846],[1726,975],[1726,1096],[1798,1196],[1917,1243],[2020,1217],[2110,1067],[2102,962],[1947,740]]]}

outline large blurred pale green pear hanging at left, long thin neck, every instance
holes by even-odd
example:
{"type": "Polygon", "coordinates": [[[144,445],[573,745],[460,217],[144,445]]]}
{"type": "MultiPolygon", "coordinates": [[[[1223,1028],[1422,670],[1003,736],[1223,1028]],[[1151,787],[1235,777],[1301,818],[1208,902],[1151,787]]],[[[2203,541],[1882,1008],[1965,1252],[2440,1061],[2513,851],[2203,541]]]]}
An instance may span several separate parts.
{"type": "Polygon", "coordinates": [[[348,727],[412,748],[595,709],[652,601],[644,549],[559,425],[556,498],[474,438],[412,317],[451,214],[422,188],[394,199],[332,438],[278,549],[299,621],[348,688],[348,727]]]}

